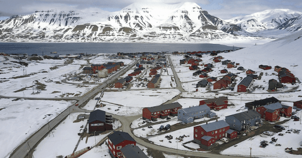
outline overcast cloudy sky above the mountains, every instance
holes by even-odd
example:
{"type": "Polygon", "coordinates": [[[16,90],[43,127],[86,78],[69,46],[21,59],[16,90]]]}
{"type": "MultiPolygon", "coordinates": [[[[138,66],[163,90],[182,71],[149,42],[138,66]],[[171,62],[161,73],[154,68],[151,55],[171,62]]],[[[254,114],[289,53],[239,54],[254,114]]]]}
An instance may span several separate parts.
{"type": "Polygon", "coordinates": [[[175,4],[195,2],[210,15],[229,19],[267,9],[291,9],[302,12],[302,0],[0,0],[0,17],[32,14],[51,9],[94,11],[119,11],[133,2],[175,4]]]}

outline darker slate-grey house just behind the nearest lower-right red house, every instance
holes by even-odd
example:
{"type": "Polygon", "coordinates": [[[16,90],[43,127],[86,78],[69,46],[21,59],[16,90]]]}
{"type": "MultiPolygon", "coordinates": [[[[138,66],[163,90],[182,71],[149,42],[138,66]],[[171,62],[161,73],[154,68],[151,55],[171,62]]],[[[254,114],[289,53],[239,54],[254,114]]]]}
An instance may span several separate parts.
{"type": "Polygon", "coordinates": [[[247,130],[250,126],[259,126],[260,121],[261,115],[254,110],[226,116],[229,128],[237,131],[247,130]]]}

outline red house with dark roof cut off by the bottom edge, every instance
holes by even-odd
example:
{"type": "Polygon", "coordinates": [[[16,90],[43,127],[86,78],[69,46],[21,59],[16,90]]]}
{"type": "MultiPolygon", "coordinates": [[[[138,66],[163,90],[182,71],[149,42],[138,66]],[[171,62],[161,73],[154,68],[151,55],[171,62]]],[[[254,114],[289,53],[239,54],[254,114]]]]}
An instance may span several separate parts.
{"type": "Polygon", "coordinates": [[[109,153],[113,158],[123,158],[120,149],[129,144],[136,145],[136,141],[126,132],[114,131],[108,136],[109,153]]]}

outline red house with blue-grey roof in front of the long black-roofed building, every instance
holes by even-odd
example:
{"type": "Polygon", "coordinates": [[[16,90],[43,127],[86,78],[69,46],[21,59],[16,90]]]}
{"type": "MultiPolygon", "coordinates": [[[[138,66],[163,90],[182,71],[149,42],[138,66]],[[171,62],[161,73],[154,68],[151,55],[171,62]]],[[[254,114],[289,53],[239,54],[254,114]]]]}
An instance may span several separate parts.
{"type": "Polygon", "coordinates": [[[281,103],[274,103],[269,105],[264,105],[256,108],[256,111],[260,113],[261,118],[276,122],[280,120],[280,117],[290,117],[292,114],[292,107],[281,105],[281,103]]]}

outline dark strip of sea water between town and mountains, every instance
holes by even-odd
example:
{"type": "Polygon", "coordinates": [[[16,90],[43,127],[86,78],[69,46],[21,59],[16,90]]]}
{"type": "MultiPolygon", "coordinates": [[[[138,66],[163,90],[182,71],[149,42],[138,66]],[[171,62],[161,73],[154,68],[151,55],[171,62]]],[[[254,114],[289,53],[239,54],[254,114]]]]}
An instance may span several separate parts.
{"type": "MultiPolygon", "coordinates": [[[[235,47],[235,50],[239,47],[235,47]]],[[[208,43],[1,43],[0,52],[28,55],[58,55],[76,53],[135,53],[135,52],[193,52],[232,50],[232,46],[208,43]],[[57,52],[57,54],[51,54],[57,52]]]]}

